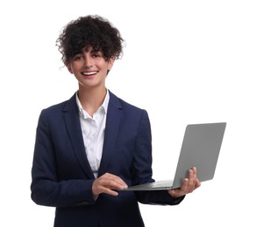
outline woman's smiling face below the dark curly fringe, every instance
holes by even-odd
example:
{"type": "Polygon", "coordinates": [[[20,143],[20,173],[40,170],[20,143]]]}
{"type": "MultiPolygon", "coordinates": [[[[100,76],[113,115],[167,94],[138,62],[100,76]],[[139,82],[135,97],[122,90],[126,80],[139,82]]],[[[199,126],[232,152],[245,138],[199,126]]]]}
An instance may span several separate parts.
{"type": "Polygon", "coordinates": [[[103,52],[89,47],[75,54],[68,64],[68,71],[75,75],[79,89],[94,87],[105,89],[106,75],[113,64],[113,58],[106,60],[103,52]]]}

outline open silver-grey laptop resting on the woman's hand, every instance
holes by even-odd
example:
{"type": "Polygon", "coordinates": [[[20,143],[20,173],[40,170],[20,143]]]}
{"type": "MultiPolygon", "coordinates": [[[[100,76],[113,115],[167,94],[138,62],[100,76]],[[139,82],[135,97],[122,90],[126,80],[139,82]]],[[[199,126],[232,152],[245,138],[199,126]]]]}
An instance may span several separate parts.
{"type": "Polygon", "coordinates": [[[177,189],[188,176],[188,169],[196,167],[200,182],[211,180],[224,138],[225,122],[188,125],[185,130],[174,180],[149,182],[124,190],[177,189]]]}

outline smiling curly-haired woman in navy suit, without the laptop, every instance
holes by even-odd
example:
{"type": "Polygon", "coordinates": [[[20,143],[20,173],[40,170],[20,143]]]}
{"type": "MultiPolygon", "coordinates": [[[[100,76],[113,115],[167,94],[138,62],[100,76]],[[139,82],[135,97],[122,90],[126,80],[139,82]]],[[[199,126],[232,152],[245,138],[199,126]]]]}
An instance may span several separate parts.
{"type": "Polygon", "coordinates": [[[55,227],[144,226],[139,203],[181,203],[200,186],[196,169],[188,171],[180,189],[122,190],[154,180],[146,110],[105,86],[123,52],[119,31],[103,17],[79,17],[64,28],[57,45],[78,91],[39,116],[32,200],[56,207],[55,227]]]}

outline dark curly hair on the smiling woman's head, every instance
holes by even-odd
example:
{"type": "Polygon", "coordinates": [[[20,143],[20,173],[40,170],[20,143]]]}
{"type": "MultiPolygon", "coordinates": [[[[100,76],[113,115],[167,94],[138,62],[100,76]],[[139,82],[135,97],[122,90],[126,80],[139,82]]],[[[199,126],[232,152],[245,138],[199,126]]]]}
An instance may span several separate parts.
{"type": "Polygon", "coordinates": [[[117,28],[107,19],[97,15],[78,17],[69,22],[56,40],[62,54],[61,60],[66,66],[75,54],[88,47],[103,52],[106,60],[121,58],[123,43],[124,39],[117,28]]]}

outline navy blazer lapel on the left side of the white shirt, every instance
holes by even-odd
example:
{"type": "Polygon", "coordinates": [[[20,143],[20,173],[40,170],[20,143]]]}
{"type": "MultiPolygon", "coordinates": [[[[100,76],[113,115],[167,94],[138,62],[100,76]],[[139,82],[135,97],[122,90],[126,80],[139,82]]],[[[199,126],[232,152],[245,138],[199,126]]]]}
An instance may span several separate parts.
{"type": "Polygon", "coordinates": [[[86,175],[91,179],[95,178],[85,153],[75,95],[68,100],[67,105],[63,108],[63,112],[63,118],[68,131],[69,139],[75,152],[75,156],[82,169],[84,169],[86,175]]]}

